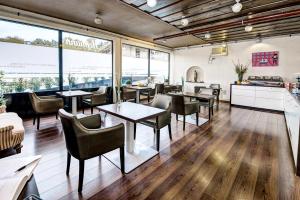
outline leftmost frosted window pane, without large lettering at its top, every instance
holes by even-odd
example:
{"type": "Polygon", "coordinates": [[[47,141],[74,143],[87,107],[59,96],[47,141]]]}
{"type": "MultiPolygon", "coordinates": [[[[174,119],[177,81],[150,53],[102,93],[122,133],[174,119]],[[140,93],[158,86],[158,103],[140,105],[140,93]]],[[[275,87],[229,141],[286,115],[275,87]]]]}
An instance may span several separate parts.
{"type": "Polygon", "coordinates": [[[59,89],[58,31],[0,20],[4,93],[59,89]]]}

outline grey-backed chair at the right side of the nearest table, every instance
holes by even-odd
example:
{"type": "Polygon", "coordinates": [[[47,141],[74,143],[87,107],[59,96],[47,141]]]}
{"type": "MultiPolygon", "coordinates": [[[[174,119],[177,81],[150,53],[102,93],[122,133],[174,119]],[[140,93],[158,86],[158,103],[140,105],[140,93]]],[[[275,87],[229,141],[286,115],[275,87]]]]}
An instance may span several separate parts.
{"type": "MultiPolygon", "coordinates": [[[[156,149],[159,151],[160,143],[160,129],[168,126],[169,137],[172,140],[172,131],[171,131],[171,103],[172,98],[167,95],[156,94],[153,101],[149,106],[160,108],[166,110],[166,113],[159,115],[157,118],[151,118],[148,120],[141,121],[141,124],[152,127],[156,131],[156,149]]],[[[134,139],[136,138],[136,126],[134,127],[134,139]]]]}

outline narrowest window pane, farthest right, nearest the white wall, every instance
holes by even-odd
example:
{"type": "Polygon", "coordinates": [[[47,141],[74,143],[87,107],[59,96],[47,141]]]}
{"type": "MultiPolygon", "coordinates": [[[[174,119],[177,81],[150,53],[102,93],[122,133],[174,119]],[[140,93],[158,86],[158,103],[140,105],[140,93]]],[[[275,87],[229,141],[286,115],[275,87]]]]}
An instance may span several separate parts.
{"type": "Polygon", "coordinates": [[[155,82],[168,82],[169,79],[169,54],[161,51],[150,51],[150,76],[155,82]]]}

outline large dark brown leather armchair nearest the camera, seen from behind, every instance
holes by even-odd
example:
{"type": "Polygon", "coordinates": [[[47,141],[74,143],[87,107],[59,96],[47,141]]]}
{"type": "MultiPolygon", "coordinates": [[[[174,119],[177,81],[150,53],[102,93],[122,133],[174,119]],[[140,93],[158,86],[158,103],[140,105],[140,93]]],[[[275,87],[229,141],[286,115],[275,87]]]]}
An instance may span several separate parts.
{"type": "Polygon", "coordinates": [[[124,125],[101,128],[99,114],[83,118],[59,110],[62,127],[64,130],[67,155],[67,170],[69,175],[71,156],[79,160],[79,184],[78,192],[82,191],[84,161],[114,149],[120,149],[121,171],[124,173],[124,125]]]}

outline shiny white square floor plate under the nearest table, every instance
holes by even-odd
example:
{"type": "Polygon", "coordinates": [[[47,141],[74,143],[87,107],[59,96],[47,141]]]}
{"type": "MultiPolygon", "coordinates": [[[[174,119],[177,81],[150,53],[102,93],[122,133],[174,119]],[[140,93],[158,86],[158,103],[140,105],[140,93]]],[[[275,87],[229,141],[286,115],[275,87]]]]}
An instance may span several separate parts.
{"type": "MultiPolygon", "coordinates": [[[[125,150],[125,173],[133,171],[135,168],[139,167],[157,154],[158,151],[152,149],[151,147],[147,147],[139,142],[135,142],[132,153],[129,153],[125,150]]],[[[110,151],[103,156],[121,169],[119,149],[110,151]]]]}

